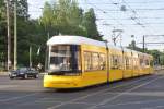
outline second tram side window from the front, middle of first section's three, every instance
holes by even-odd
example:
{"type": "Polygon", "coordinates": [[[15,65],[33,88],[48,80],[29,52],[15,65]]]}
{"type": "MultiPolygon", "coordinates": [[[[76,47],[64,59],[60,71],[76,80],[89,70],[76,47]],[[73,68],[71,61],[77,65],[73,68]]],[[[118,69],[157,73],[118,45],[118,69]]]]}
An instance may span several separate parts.
{"type": "Polygon", "coordinates": [[[92,70],[99,70],[98,53],[92,53],[92,70]]]}

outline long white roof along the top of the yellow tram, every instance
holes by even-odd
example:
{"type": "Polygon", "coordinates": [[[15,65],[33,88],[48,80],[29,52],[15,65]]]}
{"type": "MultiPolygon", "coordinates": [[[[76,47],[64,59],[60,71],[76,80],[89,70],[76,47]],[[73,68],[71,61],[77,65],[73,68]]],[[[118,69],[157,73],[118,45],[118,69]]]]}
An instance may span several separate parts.
{"type": "MultiPolygon", "coordinates": [[[[86,37],[82,37],[82,36],[70,36],[70,35],[60,35],[60,36],[52,36],[48,41],[47,45],[48,46],[54,46],[54,45],[94,45],[94,46],[98,46],[98,47],[106,47],[106,44],[104,41],[98,41],[98,40],[94,40],[91,38],[86,38],[86,37]]],[[[117,49],[117,50],[122,50],[125,52],[136,52],[139,55],[147,55],[147,53],[142,53],[142,52],[138,52],[134,50],[130,50],[127,48],[121,48],[118,46],[113,46],[110,44],[107,44],[109,49],[117,49]]],[[[147,55],[149,56],[149,55],[147,55]]]]}

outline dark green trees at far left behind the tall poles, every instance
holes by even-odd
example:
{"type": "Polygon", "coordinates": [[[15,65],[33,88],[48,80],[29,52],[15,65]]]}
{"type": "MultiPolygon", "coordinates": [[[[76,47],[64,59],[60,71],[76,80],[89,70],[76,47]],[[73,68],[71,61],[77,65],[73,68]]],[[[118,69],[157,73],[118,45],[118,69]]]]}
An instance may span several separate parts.
{"type": "MultiPolygon", "coordinates": [[[[5,16],[5,3],[4,0],[0,1],[0,68],[7,65],[7,16],[5,16]]],[[[11,28],[11,61],[13,64],[13,46],[14,46],[14,0],[10,0],[10,28],[11,28]]],[[[40,27],[37,20],[31,20],[27,13],[27,0],[17,1],[17,63],[19,65],[28,66],[28,49],[33,48],[34,65],[37,62],[44,63],[44,55],[39,57],[36,55],[39,46],[45,49],[45,34],[43,27],[40,27]]]]}

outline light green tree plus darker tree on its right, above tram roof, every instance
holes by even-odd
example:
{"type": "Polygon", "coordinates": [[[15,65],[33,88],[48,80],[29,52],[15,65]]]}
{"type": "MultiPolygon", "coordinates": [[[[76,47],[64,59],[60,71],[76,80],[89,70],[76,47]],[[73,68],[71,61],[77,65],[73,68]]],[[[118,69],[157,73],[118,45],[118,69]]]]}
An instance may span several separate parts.
{"type": "Polygon", "coordinates": [[[83,12],[75,0],[59,0],[44,5],[40,24],[50,35],[81,35],[102,40],[93,9],[83,12]]]}

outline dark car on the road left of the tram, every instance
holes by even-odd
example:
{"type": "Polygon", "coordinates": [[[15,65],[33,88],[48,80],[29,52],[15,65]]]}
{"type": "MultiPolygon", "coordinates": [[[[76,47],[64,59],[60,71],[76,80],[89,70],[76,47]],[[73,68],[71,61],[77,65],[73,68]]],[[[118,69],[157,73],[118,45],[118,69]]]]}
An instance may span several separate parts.
{"type": "Polygon", "coordinates": [[[36,71],[33,68],[20,68],[15,71],[11,71],[9,74],[9,77],[15,78],[15,77],[22,77],[22,78],[28,78],[28,77],[35,77],[38,78],[38,71],[36,71]]]}

